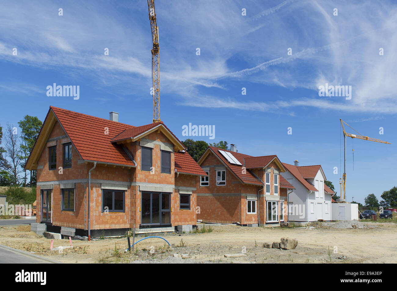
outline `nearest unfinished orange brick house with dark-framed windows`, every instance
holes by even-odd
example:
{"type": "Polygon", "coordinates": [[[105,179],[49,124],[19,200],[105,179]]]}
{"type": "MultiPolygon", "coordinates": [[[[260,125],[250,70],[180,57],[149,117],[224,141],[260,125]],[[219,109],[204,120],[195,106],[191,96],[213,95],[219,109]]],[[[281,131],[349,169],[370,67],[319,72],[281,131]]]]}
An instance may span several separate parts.
{"type": "Polygon", "coordinates": [[[131,126],[50,107],[26,169],[37,170],[37,223],[100,237],[195,225],[206,173],[163,122],[131,126]]]}

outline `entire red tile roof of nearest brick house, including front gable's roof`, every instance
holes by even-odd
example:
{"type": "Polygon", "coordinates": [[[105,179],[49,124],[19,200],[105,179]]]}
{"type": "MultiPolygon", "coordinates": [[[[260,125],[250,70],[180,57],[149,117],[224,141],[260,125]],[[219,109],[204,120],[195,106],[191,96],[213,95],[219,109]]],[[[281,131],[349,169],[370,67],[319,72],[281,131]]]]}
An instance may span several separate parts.
{"type": "MultiPolygon", "coordinates": [[[[50,106],[50,110],[54,112],[83,160],[133,167],[134,162],[121,145],[114,141],[121,140],[122,137],[138,136],[156,126],[164,126],[175,137],[162,122],[135,127],[53,106],[50,106]],[[108,134],[105,134],[105,127],[108,128],[108,134]]],[[[181,143],[177,137],[175,139],[181,143]]],[[[188,153],[175,152],[175,169],[181,173],[206,175],[188,153]]]]}

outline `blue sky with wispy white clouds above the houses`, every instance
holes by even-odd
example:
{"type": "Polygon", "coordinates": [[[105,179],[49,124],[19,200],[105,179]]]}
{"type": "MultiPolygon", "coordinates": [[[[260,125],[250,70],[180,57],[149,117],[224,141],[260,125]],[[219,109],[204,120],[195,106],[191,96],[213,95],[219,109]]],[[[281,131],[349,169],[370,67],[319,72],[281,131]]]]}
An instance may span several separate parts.
{"type": "MultiPolygon", "coordinates": [[[[194,138],[225,140],[254,156],[277,154],[290,164],[321,164],[339,192],[342,118],[392,143],[356,140],[353,171],[348,139],[347,199],[364,202],[372,192],[380,198],[397,185],[392,1],[156,0],[156,14],[160,118],[179,139],[189,122],[214,125],[214,140],[194,138]],[[320,97],[326,83],[352,86],[352,98],[320,97]]],[[[146,1],[2,3],[1,125],[26,114],[44,120],[50,105],[150,123],[151,47],[146,1]],[[48,97],[53,83],[80,86],[80,98],[48,97]]]]}

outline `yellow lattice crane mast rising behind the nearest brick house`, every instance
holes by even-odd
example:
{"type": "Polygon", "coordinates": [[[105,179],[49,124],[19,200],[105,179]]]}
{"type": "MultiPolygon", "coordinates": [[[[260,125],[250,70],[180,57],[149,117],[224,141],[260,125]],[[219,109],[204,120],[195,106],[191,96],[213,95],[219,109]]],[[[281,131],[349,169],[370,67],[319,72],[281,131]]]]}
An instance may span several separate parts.
{"type": "Polygon", "coordinates": [[[152,29],[152,89],[153,94],[153,123],[160,122],[160,56],[158,48],[158,27],[154,0],[148,0],[150,27],[152,29]]]}

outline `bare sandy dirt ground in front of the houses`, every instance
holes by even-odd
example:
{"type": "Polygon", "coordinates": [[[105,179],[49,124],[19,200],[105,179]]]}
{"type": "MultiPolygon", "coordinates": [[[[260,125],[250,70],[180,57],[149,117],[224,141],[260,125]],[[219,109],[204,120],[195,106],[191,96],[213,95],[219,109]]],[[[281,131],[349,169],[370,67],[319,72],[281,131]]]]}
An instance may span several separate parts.
{"type": "MultiPolygon", "coordinates": [[[[365,228],[333,228],[316,223],[308,228],[268,228],[223,225],[200,234],[164,234],[171,243],[148,238],[125,253],[127,238],[105,238],[84,242],[73,240],[73,248],[50,251],[51,240],[30,231],[30,226],[1,226],[0,244],[34,252],[65,263],[395,263],[397,224],[365,223],[365,228]],[[267,249],[264,242],[295,238],[292,250],[267,249]],[[245,253],[238,258],[225,254],[245,253]],[[174,257],[188,255],[188,259],[174,257]]],[[[135,241],[141,237],[136,237],[135,241]]],[[[132,240],[131,240],[132,242],[132,240]]],[[[54,247],[69,240],[54,240],[54,247]]]]}

